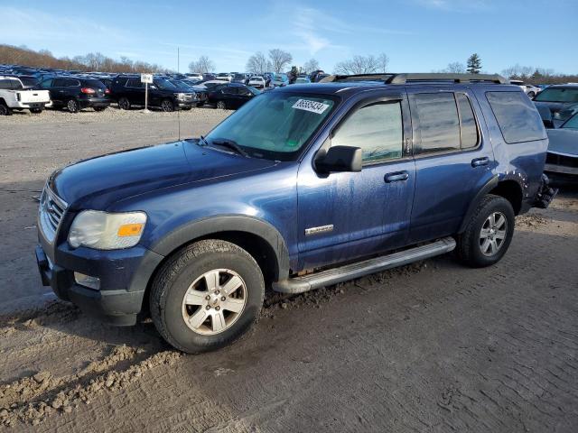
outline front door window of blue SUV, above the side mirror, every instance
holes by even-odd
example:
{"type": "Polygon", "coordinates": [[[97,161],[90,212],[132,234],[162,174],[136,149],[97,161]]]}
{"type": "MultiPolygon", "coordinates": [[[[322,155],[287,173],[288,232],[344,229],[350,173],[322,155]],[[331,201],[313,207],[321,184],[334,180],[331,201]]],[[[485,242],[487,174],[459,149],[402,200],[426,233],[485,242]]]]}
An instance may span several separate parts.
{"type": "Polygon", "coordinates": [[[366,163],[401,158],[403,150],[401,105],[378,103],[359,108],[331,137],[331,146],[360,147],[366,163]]]}

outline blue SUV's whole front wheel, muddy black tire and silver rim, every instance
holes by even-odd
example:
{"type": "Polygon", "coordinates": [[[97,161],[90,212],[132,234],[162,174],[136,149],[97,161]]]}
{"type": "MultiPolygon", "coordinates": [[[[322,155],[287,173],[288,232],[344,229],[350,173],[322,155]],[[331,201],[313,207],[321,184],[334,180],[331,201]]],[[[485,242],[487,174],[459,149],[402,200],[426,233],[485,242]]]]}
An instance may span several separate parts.
{"type": "Polygon", "coordinates": [[[182,352],[198,354],[245,334],[258,318],[264,296],[263,273],[255,259],[236,244],[209,239],[183,248],[163,264],[149,300],[161,336],[182,352]],[[217,280],[215,275],[219,284],[207,284],[217,280]],[[233,285],[227,289],[228,283],[233,285]]]}

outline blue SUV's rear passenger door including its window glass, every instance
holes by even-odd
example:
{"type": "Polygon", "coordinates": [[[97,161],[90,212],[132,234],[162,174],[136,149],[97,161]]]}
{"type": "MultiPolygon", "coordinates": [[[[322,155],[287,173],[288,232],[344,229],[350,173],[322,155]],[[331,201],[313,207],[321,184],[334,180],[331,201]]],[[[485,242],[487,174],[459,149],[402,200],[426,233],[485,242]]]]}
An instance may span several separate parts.
{"type": "Polygon", "coordinates": [[[410,242],[453,235],[491,178],[494,156],[469,88],[407,89],[412,112],[415,198],[410,242]]]}

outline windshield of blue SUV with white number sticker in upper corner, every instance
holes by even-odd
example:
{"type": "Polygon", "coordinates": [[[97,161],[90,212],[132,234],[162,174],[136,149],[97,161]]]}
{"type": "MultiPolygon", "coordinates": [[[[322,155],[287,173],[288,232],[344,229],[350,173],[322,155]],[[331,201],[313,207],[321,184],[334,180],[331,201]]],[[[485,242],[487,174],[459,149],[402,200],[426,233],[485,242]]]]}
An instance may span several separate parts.
{"type": "Polygon", "coordinates": [[[208,143],[236,143],[256,158],[294,161],[336,105],[337,99],[326,95],[261,94],[205,138],[208,143]]]}

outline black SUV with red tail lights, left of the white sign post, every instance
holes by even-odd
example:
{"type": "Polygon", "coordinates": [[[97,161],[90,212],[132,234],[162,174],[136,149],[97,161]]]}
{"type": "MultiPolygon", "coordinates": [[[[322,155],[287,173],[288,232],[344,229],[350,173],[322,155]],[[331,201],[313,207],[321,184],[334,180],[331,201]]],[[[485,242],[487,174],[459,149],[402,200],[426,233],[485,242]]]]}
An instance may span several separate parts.
{"type": "Polygon", "coordinates": [[[40,84],[50,91],[51,106],[66,108],[77,113],[82,108],[102,111],[110,105],[110,91],[98,79],[76,77],[51,77],[40,84]]]}

